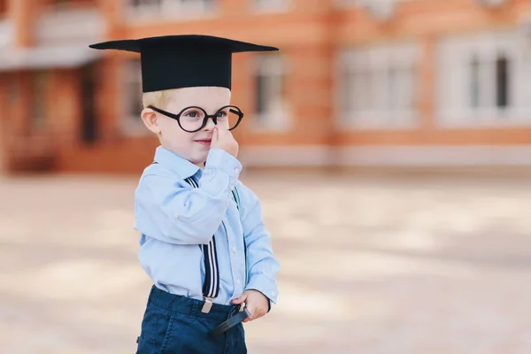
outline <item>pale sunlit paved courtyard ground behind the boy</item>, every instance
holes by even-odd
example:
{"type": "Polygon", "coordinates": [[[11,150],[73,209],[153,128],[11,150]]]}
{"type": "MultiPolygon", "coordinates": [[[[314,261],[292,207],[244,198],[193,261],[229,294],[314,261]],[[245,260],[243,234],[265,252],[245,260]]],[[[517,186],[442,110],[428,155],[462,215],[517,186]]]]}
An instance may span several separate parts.
{"type": "MultiPolygon", "coordinates": [[[[281,261],[250,353],[531,353],[531,182],[245,175],[281,261]]],[[[135,179],[0,180],[0,352],[134,353],[135,179]]]]}

